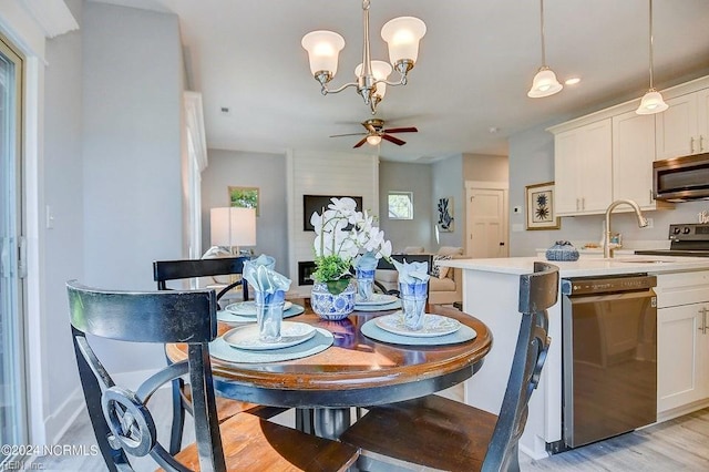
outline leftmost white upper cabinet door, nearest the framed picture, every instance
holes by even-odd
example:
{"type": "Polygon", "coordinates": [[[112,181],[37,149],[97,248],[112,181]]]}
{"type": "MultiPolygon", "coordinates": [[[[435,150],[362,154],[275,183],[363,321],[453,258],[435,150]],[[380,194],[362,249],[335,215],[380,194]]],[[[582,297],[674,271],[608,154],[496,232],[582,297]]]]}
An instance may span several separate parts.
{"type": "Polygon", "coordinates": [[[613,201],[612,172],[610,119],[555,134],[556,214],[604,213],[613,201]]]}

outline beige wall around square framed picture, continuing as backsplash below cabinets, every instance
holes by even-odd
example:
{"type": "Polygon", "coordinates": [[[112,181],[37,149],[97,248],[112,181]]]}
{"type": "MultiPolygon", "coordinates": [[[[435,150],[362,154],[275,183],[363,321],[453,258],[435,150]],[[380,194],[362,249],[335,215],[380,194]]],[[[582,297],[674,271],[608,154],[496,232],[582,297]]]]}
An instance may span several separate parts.
{"type": "MultiPolygon", "coordinates": [[[[524,187],[554,181],[554,136],[545,131],[551,124],[537,126],[510,137],[510,255],[534,256],[535,249],[547,248],[559,239],[598,243],[602,238],[603,215],[563,217],[557,230],[524,230],[524,187]],[[513,214],[521,206],[523,212],[513,214]],[[514,225],[521,225],[515,230],[514,225]]],[[[621,208],[618,208],[621,209],[621,208]]],[[[709,209],[708,202],[677,204],[675,209],[645,212],[654,219],[653,228],[638,228],[630,213],[614,213],[613,230],[624,240],[667,243],[671,223],[695,223],[697,213],[709,209]]]]}

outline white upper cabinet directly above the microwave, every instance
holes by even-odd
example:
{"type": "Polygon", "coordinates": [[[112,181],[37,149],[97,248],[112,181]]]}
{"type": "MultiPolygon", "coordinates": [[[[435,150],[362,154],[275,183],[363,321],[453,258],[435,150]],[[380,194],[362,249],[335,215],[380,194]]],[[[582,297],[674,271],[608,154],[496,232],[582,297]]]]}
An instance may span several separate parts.
{"type": "Polygon", "coordinates": [[[709,152],[709,89],[668,99],[657,114],[657,158],[709,152]]]}

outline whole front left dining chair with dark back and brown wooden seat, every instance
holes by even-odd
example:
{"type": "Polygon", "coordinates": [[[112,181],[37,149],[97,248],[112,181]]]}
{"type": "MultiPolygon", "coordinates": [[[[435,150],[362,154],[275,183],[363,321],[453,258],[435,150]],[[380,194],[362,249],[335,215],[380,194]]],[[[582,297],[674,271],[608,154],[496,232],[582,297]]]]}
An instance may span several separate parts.
{"type": "MultiPolygon", "coordinates": [[[[110,471],[132,471],[129,456],[151,456],[167,471],[340,471],[357,448],[239,413],[219,424],[209,342],[217,336],[214,290],[117,291],[66,284],[79,376],[96,442],[110,471]],[[135,342],[186,343],[187,359],[150,376],[135,389],[115,384],[86,335],[135,342]],[[188,376],[196,442],[173,455],[161,444],[154,393],[188,376]]],[[[93,340],[93,339],[92,339],[93,340]]]]}

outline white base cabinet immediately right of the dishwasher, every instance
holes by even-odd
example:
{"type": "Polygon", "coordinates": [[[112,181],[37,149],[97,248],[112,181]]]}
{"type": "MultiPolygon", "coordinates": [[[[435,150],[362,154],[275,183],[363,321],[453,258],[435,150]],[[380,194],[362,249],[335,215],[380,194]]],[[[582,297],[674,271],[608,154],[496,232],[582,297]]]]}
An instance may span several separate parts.
{"type": "Polygon", "coordinates": [[[658,276],[657,411],[709,398],[709,273],[658,276]]]}

